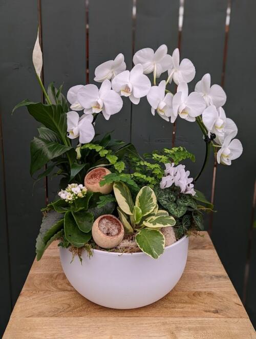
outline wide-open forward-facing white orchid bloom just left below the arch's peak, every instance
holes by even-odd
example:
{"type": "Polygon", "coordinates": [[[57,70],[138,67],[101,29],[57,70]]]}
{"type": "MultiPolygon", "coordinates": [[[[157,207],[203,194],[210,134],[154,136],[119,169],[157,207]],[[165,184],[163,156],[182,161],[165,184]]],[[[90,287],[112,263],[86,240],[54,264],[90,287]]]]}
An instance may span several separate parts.
{"type": "Polygon", "coordinates": [[[120,95],[129,96],[132,103],[137,105],[140,98],[151,88],[150,79],[143,74],[142,65],[138,64],[131,71],[125,70],[112,80],[112,88],[120,95]]]}

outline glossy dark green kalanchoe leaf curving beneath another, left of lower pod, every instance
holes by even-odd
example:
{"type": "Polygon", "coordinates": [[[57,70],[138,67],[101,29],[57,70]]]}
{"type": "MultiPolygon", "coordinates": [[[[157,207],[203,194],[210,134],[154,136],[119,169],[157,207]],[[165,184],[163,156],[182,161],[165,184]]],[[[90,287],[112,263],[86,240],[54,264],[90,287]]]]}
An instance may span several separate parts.
{"type": "Polygon", "coordinates": [[[92,233],[84,233],[79,230],[75,219],[70,211],[65,213],[64,218],[64,230],[65,230],[65,237],[66,239],[74,246],[84,245],[88,243],[88,241],[92,237],[92,233]]]}

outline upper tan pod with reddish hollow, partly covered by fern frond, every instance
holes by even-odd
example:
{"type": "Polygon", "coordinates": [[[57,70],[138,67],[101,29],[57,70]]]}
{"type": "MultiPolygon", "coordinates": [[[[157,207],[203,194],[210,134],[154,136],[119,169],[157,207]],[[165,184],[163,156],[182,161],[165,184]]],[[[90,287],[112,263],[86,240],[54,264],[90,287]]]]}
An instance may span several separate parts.
{"type": "Polygon", "coordinates": [[[105,167],[97,167],[92,169],[89,173],[87,173],[84,178],[84,186],[92,192],[100,192],[102,194],[109,194],[113,190],[112,184],[105,184],[104,186],[100,186],[99,183],[102,178],[110,174],[110,170],[105,167]]]}

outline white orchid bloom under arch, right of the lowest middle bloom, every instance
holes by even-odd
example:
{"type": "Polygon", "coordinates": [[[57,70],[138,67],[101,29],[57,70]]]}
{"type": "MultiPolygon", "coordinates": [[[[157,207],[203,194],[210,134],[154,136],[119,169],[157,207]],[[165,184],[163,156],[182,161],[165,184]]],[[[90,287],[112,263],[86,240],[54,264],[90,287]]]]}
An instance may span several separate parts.
{"type": "Polygon", "coordinates": [[[199,93],[192,92],[188,95],[186,82],[181,82],[177,93],[173,97],[173,113],[170,122],[174,123],[178,114],[189,122],[196,121],[196,116],[203,113],[205,101],[199,93]]]}

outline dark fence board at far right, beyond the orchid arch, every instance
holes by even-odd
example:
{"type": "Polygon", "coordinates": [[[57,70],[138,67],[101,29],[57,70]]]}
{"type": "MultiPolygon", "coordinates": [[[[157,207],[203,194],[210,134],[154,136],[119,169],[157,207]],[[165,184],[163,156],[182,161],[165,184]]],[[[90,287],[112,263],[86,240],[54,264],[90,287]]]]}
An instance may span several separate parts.
{"type": "MultiPolygon", "coordinates": [[[[213,239],[227,273],[242,294],[255,180],[256,2],[233,0],[224,89],[225,111],[238,126],[244,152],[231,166],[219,166],[213,239]]],[[[254,292],[255,293],[255,292],[254,292]]]]}

